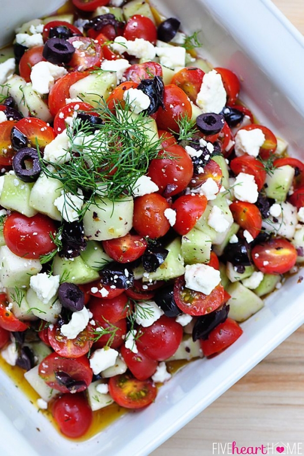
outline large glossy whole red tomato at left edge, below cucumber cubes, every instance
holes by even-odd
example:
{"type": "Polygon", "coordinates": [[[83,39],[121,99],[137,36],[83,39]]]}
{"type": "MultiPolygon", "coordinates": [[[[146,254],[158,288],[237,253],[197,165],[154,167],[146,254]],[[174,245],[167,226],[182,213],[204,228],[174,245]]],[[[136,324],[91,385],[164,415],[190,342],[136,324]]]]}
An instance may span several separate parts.
{"type": "Polygon", "coordinates": [[[56,248],[50,237],[50,233],[54,236],[56,231],[55,223],[46,215],[26,217],[12,212],[5,219],[3,235],[6,245],[15,255],[39,258],[56,248]]]}

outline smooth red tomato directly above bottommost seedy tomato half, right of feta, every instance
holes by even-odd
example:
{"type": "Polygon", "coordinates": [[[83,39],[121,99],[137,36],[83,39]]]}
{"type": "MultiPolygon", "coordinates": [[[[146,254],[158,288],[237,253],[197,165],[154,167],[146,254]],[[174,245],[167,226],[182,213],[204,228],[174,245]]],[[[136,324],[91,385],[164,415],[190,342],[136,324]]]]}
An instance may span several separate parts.
{"type": "Polygon", "coordinates": [[[155,373],[158,366],[157,360],[149,358],[140,350],[137,353],[133,353],[124,345],[121,346],[120,352],[128,368],[138,380],[146,380],[155,373]]]}

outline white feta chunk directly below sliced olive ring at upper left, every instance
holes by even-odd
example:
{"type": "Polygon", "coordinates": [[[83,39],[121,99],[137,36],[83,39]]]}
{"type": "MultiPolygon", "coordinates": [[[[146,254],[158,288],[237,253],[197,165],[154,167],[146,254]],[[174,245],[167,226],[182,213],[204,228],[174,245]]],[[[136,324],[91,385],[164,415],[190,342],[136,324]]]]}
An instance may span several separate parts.
{"type": "Polygon", "coordinates": [[[32,67],[30,72],[33,90],[40,95],[47,94],[50,92],[55,81],[65,74],[67,74],[67,70],[63,66],[45,61],[38,62],[32,67]]]}

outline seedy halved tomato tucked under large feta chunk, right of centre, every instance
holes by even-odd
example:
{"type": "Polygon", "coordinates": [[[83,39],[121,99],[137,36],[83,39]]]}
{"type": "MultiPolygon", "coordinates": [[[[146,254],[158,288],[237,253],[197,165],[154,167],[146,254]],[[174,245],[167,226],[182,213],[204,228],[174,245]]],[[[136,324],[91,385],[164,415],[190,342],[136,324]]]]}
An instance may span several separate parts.
{"type": "Polygon", "coordinates": [[[217,285],[210,294],[191,290],[185,285],[184,277],[178,277],[174,283],[174,299],[177,307],[189,315],[205,315],[219,308],[224,299],[222,285],[217,285]]]}

